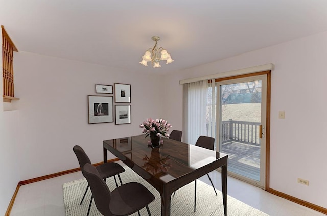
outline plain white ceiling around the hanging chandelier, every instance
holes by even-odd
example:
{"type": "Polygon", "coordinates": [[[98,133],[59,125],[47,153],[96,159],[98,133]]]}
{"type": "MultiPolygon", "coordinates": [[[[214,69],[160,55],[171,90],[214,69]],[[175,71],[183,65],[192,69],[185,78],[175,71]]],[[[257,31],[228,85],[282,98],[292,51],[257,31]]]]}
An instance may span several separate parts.
{"type": "Polygon", "coordinates": [[[169,73],[327,30],[326,0],[0,0],[19,51],[169,73]],[[175,60],[139,64],[158,46],[175,60]]]}

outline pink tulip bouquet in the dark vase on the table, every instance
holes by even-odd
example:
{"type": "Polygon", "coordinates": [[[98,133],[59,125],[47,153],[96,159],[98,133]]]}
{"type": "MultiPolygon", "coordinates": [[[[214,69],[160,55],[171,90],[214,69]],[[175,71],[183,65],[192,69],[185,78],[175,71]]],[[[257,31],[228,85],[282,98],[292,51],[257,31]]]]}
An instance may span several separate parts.
{"type": "Polygon", "coordinates": [[[167,132],[171,126],[172,125],[168,124],[164,119],[154,120],[152,118],[147,119],[143,124],[139,125],[139,127],[143,128],[142,132],[146,134],[145,137],[148,137],[150,134],[156,134],[157,137],[163,135],[167,138],[169,137],[167,132]]]}

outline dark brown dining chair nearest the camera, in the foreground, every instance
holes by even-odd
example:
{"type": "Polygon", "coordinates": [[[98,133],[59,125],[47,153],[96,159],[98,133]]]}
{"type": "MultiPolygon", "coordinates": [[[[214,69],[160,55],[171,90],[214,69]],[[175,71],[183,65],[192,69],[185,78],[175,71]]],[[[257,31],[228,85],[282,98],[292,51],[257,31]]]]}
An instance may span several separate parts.
{"type": "Polygon", "coordinates": [[[90,185],[97,209],[104,216],[131,215],[136,211],[140,215],[139,210],[144,207],[151,216],[148,205],[154,200],[154,195],[142,184],[129,182],[110,192],[94,166],[85,164],[82,173],[90,185]]]}

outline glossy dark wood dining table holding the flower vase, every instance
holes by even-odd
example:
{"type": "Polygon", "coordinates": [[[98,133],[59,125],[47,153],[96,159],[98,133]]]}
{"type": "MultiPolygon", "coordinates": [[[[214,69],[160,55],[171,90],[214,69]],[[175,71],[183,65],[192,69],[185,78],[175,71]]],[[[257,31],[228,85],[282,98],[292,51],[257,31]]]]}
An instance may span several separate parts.
{"type": "Polygon", "coordinates": [[[162,216],[170,215],[170,199],[174,191],[221,167],[222,198],[226,216],[228,155],[173,139],[161,139],[160,148],[152,148],[149,144],[150,138],[145,138],[144,135],[104,140],[104,163],[107,162],[107,151],[110,151],[156,188],[161,196],[162,216]]]}

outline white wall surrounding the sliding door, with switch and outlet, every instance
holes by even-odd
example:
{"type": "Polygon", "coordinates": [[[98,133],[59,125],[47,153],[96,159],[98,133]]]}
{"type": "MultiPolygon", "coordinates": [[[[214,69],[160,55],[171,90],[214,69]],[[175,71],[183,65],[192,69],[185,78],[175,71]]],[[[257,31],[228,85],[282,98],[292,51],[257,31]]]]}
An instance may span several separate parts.
{"type": "MultiPolygon", "coordinates": [[[[264,35],[263,35],[264,37],[264,35]]],[[[327,208],[327,32],[245,53],[166,76],[168,119],[182,127],[178,80],[273,63],[270,188],[327,208]],[[285,111],[285,119],[278,119],[285,111]],[[297,178],[309,180],[309,186],[297,178]]]]}

